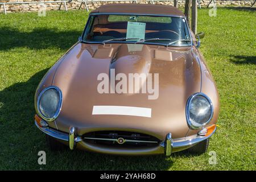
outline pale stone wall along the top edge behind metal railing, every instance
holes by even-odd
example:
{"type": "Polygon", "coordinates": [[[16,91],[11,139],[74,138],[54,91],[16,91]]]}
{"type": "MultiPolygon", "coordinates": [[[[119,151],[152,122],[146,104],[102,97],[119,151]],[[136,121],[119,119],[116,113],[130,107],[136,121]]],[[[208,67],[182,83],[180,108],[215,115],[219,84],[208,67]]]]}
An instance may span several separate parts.
{"type": "MultiPolygon", "coordinates": [[[[0,0],[0,2],[34,2],[39,0],[0,0]]],[[[42,0],[40,0],[42,1],[42,0]]],[[[43,0],[43,1],[54,1],[54,0],[43,0]]],[[[132,3],[133,1],[122,1],[122,2],[94,2],[94,3],[88,3],[89,10],[96,9],[97,7],[100,7],[101,5],[104,5],[106,3],[132,3]]],[[[202,7],[207,6],[209,4],[210,0],[201,0],[200,4],[202,7]]],[[[217,6],[227,6],[227,5],[233,5],[233,6],[251,6],[253,4],[254,0],[246,0],[246,1],[218,1],[216,0],[217,6]]],[[[150,3],[150,1],[146,0],[138,0],[138,3],[150,3]]],[[[156,4],[163,4],[163,5],[174,5],[174,1],[156,1],[156,4]]],[[[81,2],[77,2],[76,0],[73,0],[70,3],[67,3],[67,9],[79,9],[81,5],[81,2]]],[[[185,6],[185,0],[178,0],[178,6],[184,7],[185,6]]],[[[60,7],[60,3],[46,3],[46,10],[58,10],[60,7]]],[[[85,9],[85,5],[82,5],[82,9],[85,9]]],[[[6,11],[7,13],[11,12],[25,12],[25,11],[39,11],[39,9],[42,9],[42,6],[39,4],[22,4],[22,5],[6,5],[6,11]]],[[[64,5],[61,5],[61,9],[64,10],[64,5]]],[[[0,13],[3,13],[3,6],[0,8],[0,13]]]]}

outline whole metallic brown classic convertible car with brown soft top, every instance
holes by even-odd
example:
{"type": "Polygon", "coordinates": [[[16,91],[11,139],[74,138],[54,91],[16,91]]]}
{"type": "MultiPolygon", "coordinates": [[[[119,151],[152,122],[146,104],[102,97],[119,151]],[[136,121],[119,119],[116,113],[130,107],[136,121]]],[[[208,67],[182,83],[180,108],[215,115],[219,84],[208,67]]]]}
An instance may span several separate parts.
{"type": "Polygon", "coordinates": [[[40,82],[35,125],[52,150],[207,151],[219,98],[200,37],[172,6],[109,4],[40,82]],[[198,40],[197,40],[198,39],[198,40]]]}

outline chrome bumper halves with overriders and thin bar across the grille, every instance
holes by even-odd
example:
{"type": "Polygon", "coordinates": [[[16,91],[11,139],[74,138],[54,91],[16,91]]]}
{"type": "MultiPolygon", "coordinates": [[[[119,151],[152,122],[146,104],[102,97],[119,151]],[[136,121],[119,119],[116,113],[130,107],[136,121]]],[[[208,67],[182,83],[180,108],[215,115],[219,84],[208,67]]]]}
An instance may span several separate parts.
{"type": "MultiPolygon", "coordinates": [[[[38,127],[39,130],[43,131],[43,133],[46,133],[47,135],[59,139],[64,140],[69,143],[69,148],[71,150],[75,149],[76,143],[81,142],[84,139],[98,139],[98,140],[113,140],[117,141],[118,139],[104,139],[104,138],[82,138],[80,136],[76,136],[76,131],[74,127],[71,127],[69,130],[69,134],[58,131],[56,129],[51,129],[50,127],[40,127],[38,123],[35,121],[36,127],[38,127]]],[[[166,156],[170,156],[173,152],[184,150],[185,148],[189,148],[196,143],[199,143],[210,136],[214,134],[216,131],[216,128],[214,129],[213,133],[208,135],[207,137],[203,137],[200,135],[192,135],[190,137],[185,138],[179,138],[179,139],[172,139],[172,134],[168,133],[166,135],[166,139],[159,143],[160,147],[164,148],[164,154],[166,156]]],[[[128,140],[126,139],[125,142],[135,142],[135,140],[128,140]]],[[[152,143],[151,141],[143,141],[143,140],[136,140],[136,142],[147,142],[152,143]]]]}

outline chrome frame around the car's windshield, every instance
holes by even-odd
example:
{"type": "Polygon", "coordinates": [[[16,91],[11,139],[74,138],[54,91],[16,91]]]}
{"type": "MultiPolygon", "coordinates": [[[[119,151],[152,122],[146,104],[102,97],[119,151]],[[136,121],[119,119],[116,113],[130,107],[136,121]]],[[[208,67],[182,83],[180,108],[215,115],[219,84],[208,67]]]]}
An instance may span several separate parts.
{"type": "MultiPolygon", "coordinates": [[[[192,40],[192,36],[191,36],[191,32],[190,32],[190,28],[188,26],[188,22],[187,22],[187,18],[185,16],[177,16],[177,15],[162,15],[162,14],[137,14],[137,13],[90,13],[89,14],[89,17],[88,17],[88,20],[85,24],[85,28],[84,28],[84,31],[82,32],[82,35],[81,35],[81,43],[85,43],[85,44],[102,44],[103,41],[98,41],[98,42],[95,42],[95,41],[84,41],[83,38],[84,38],[84,35],[85,35],[85,31],[86,31],[86,28],[88,27],[88,22],[90,21],[90,19],[92,18],[92,16],[95,16],[95,15],[138,15],[138,16],[163,16],[163,17],[174,17],[174,18],[184,18],[185,20],[185,25],[187,27],[187,30],[188,30],[188,34],[189,34],[189,39],[191,40],[189,44],[185,44],[185,45],[177,45],[177,44],[174,44],[174,45],[170,45],[168,47],[189,47],[189,46],[193,46],[193,40],[192,40]]],[[[131,42],[131,41],[111,41],[111,42],[108,42],[108,43],[126,43],[126,44],[136,44],[136,42],[131,42]]],[[[165,43],[151,43],[151,42],[141,42],[141,43],[137,43],[137,44],[151,44],[151,45],[156,45],[156,46],[167,46],[167,44],[165,43]]]]}

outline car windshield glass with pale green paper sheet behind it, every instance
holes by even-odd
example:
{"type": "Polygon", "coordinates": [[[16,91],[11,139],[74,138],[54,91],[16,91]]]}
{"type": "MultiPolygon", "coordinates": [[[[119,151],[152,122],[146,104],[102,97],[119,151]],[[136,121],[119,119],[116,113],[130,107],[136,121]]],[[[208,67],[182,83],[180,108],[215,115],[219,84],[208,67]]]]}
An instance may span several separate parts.
{"type": "Polygon", "coordinates": [[[149,15],[90,15],[82,41],[170,46],[191,44],[185,18],[149,15]]]}

